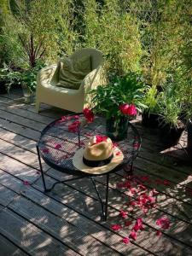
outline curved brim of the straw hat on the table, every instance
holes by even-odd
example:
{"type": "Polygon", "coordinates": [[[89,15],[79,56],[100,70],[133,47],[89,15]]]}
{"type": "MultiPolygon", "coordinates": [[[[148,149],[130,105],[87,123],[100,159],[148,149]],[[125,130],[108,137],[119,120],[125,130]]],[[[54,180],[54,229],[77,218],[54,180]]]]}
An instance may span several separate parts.
{"type": "Polygon", "coordinates": [[[124,154],[122,151],[115,147],[113,149],[113,159],[106,166],[99,167],[90,167],[84,165],[83,162],[84,148],[80,148],[73,156],[73,166],[79,169],[81,172],[90,173],[90,174],[104,174],[106,172],[112,171],[115,167],[124,159],[124,154]]]}

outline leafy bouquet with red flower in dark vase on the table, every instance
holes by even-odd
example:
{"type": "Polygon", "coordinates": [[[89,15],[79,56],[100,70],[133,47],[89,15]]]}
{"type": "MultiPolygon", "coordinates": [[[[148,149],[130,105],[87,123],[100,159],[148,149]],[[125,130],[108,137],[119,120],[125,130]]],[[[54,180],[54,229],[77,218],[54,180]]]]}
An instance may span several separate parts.
{"type": "Polygon", "coordinates": [[[145,84],[138,73],[127,73],[125,76],[111,76],[108,84],[91,90],[94,113],[106,118],[106,131],[113,140],[126,137],[129,119],[144,108],[145,84]]]}

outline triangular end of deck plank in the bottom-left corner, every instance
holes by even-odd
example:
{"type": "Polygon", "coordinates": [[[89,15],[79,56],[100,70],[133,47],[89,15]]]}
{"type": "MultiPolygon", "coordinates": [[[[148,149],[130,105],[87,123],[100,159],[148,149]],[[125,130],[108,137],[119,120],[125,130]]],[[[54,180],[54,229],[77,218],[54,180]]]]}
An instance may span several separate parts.
{"type": "Polygon", "coordinates": [[[26,256],[28,254],[16,247],[11,241],[0,235],[0,248],[2,256],[26,256]]]}

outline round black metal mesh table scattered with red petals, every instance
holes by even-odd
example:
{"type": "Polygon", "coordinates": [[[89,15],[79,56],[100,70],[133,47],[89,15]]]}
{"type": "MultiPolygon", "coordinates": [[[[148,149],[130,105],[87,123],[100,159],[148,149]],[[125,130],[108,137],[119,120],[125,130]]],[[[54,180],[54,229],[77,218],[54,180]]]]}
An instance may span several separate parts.
{"type": "Polygon", "coordinates": [[[61,119],[57,119],[47,125],[41,132],[41,136],[37,143],[37,151],[45,193],[53,189],[57,183],[65,183],[83,177],[90,177],[96,189],[98,199],[102,205],[103,218],[104,220],[107,220],[109,174],[122,169],[127,172],[128,166],[130,166],[129,174],[131,174],[133,160],[136,159],[139,148],[141,147],[141,137],[139,136],[135,126],[129,123],[127,137],[122,141],[114,142],[124,154],[124,160],[119,164],[119,166],[116,166],[113,170],[105,174],[91,174],[78,170],[73,166],[73,155],[79,148],[84,147],[84,144],[90,136],[106,135],[105,123],[105,119],[102,117],[96,117],[93,123],[82,125],[84,124],[84,116],[82,113],[63,116],[61,119]],[[79,123],[81,125],[79,125],[79,123]],[[55,170],[77,177],[55,182],[50,188],[47,188],[41,158],[48,166],[55,170]],[[106,198],[104,202],[105,208],[94,180],[94,177],[101,175],[106,175],[107,177],[106,198]]]}

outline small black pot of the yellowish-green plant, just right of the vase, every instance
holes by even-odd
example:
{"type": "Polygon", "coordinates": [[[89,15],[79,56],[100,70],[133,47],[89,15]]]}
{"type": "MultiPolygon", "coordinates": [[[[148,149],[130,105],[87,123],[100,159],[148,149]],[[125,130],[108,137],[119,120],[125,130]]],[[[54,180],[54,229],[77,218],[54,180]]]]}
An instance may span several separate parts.
{"type": "Polygon", "coordinates": [[[142,113],[142,124],[143,126],[146,126],[146,127],[158,128],[159,118],[160,118],[160,115],[158,113],[149,113],[148,111],[145,110],[142,113]]]}

